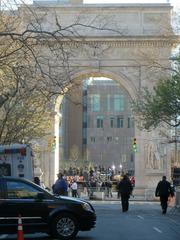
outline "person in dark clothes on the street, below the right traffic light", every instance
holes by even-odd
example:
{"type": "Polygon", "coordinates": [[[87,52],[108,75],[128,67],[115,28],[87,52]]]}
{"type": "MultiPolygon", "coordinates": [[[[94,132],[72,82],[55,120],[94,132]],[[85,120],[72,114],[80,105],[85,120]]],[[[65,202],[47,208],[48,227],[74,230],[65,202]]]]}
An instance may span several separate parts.
{"type": "Polygon", "coordinates": [[[121,195],[122,211],[127,212],[129,209],[129,198],[133,190],[131,181],[127,175],[124,175],[123,179],[119,182],[118,190],[121,195]]]}

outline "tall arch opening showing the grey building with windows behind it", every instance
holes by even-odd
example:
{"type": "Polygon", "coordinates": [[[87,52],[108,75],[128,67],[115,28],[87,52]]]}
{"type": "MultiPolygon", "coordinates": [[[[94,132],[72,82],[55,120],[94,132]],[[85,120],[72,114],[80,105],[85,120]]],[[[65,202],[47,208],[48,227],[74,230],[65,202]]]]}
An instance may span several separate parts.
{"type": "Polygon", "coordinates": [[[133,89],[110,73],[81,73],[55,105],[54,178],[60,169],[93,166],[134,175],[133,89]]]}

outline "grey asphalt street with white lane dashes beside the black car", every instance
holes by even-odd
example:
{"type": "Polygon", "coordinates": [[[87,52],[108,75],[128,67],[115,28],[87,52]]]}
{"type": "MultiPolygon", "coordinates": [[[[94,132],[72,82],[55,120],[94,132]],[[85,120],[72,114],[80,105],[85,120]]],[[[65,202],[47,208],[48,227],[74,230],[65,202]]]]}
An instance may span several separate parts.
{"type": "MultiPolygon", "coordinates": [[[[119,201],[92,201],[97,214],[96,228],[79,232],[77,240],[179,240],[180,210],[162,215],[159,202],[131,201],[122,213],[119,201]]],[[[15,235],[0,235],[15,240],[15,235]]],[[[25,235],[26,240],[51,240],[45,234],[25,235]]]]}

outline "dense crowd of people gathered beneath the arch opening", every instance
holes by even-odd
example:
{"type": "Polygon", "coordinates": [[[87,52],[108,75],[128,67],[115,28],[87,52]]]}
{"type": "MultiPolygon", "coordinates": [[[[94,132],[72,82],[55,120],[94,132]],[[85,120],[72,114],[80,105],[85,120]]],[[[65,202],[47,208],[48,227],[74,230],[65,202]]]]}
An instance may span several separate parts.
{"type": "MultiPolygon", "coordinates": [[[[123,174],[124,175],[124,174],[123,174]]],[[[73,197],[79,197],[80,191],[87,191],[90,198],[93,198],[95,191],[104,192],[105,197],[112,198],[112,191],[117,192],[117,197],[120,197],[118,183],[123,175],[118,175],[119,179],[115,179],[115,172],[112,168],[87,167],[72,168],[61,170],[58,174],[57,181],[53,184],[52,190],[57,195],[71,194],[73,197]],[[79,191],[78,191],[79,190],[79,191]]],[[[129,178],[128,178],[129,179],[129,178]]],[[[135,179],[131,177],[132,188],[135,185],[135,179]]]]}

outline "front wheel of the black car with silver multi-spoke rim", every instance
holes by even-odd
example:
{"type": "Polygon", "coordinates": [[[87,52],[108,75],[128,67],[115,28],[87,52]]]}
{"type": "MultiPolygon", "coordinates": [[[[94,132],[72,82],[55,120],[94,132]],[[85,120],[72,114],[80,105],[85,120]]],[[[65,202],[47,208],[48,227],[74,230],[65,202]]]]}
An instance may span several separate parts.
{"type": "Polygon", "coordinates": [[[73,239],[78,233],[76,219],[68,213],[58,215],[52,223],[53,236],[62,240],[73,239]]]}

